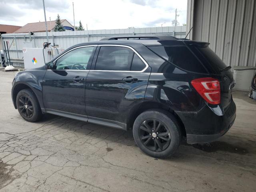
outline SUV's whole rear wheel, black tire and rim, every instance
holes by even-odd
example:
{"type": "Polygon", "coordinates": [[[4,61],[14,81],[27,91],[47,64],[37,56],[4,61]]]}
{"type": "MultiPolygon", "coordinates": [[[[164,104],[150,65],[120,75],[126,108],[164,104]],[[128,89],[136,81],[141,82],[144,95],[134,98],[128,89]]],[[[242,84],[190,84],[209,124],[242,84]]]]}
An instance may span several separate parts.
{"type": "Polygon", "coordinates": [[[134,121],[133,136],[137,146],[155,158],[171,156],[182,140],[178,122],[164,110],[142,112],[134,121]]]}

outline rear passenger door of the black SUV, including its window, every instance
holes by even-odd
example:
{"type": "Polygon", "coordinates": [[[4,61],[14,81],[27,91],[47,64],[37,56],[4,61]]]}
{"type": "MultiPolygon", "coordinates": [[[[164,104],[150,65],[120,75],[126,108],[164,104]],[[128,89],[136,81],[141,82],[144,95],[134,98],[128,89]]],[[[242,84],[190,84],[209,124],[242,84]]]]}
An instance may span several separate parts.
{"type": "Polygon", "coordinates": [[[150,72],[133,48],[98,45],[86,78],[88,122],[105,121],[125,129],[130,109],[144,100],[150,72]]]}

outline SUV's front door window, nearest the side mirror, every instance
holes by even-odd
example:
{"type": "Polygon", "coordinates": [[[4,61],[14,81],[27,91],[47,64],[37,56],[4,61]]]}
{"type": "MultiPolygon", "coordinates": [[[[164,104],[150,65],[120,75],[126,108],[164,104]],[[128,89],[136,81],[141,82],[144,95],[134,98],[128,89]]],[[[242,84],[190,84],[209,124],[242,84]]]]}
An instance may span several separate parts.
{"type": "Polygon", "coordinates": [[[56,69],[86,70],[93,49],[82,47],[68,52],[56,61],[56,69]]]}

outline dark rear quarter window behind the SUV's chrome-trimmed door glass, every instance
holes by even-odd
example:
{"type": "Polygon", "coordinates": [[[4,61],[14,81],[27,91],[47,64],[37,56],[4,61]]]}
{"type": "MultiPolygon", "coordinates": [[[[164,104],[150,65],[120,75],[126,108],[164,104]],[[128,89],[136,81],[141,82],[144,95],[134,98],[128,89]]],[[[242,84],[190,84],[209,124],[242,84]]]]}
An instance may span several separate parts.
{"type": "Polygon", "coordinates": [[[149,46],[148,48],[184,70],[207,73],[204,66],[186,46],[149,46]]]}

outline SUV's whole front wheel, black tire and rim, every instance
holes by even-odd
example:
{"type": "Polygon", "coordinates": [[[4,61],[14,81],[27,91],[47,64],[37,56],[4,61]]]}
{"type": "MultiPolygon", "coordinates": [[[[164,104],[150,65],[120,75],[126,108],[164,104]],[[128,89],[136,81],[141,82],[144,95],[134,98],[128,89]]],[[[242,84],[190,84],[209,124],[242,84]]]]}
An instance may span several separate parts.
{"type": "Polygon", "coordinates": [[[30,89],[23,89],[18,92],[16,106],[20,116],[26,121],[35,122],[43,116],[36,95],[30,89]]]}

